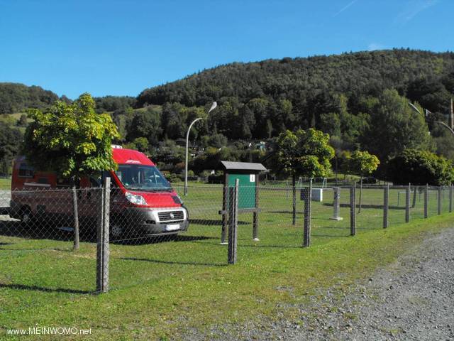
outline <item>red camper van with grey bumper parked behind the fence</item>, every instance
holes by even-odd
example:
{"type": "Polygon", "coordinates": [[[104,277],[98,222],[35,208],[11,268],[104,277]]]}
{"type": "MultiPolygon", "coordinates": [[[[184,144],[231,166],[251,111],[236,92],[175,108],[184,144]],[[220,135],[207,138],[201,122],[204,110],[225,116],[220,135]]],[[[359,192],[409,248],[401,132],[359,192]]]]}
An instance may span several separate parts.
{"type": "MultiPolygon", "coordinates": [[[[118,164],[116,171],[80,180],[79,216],[88,220],[96,217],[100,200],[90,188],[100,187],[103,179],[110,176],[113,237],[125,232],[156,235],[186,231],[187,209],[155,164],[139,151],[114,146],[112,153],[118,164]]],[[[71,193],[59,190],[69,187],[67,180],[52,172],[34,170],[25,157],[18,156],[13,163],[10,216],[27,224],[38,219],[71,217],[71,193]]]]}

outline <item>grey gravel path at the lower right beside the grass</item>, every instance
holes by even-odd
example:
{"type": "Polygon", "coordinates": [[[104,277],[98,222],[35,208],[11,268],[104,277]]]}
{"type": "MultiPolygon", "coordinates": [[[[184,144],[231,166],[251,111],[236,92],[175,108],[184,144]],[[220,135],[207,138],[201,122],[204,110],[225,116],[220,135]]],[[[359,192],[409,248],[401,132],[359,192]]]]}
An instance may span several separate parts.
{"type": "MultiPolygon", "coordinates": [[[[188,340],[454,340],[454,228],[426,239],[348,293],[298,306],[299,320],[214,329],[188,340]]],[[[285,310],[285,307],[282,307],[285,310]]]]}

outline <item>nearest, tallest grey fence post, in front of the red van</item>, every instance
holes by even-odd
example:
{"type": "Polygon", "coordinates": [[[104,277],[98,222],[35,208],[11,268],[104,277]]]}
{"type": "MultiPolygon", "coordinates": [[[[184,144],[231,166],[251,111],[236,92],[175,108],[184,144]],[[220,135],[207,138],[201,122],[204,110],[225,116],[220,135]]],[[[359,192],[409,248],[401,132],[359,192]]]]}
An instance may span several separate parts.
{"type": "Polygon", "coordinates": [[[111,178],[104,179],[96,244],[96,292],[109,291],[109,217],[111,178]]]}

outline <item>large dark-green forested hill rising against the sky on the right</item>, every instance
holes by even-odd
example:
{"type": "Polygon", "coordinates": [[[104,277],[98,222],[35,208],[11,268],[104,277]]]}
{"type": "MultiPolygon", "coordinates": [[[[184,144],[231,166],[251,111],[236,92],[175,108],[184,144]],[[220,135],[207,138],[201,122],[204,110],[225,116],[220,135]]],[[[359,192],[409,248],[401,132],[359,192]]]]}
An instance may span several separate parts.
{"type": "Polygon", "coordinates": [[[441,83],[433,89],[440,92],[438,97],[443,97],[445,90],[452,93],[452,72],[454,53],[404,49],[231,63],[146,89],[136,105],[178,102],[192,107],[226,97],[242,103],[269,97],[275,101],[289,99],[295,109],[304,111],[322,92],[342,92],[350,98],[358,94],[377,96],[384,89],[394,88],[428,109],[440,111],[447,104],[433,101],[441,98],[421,98],[421,91],[428,90],[421,87],[441,83]]]}

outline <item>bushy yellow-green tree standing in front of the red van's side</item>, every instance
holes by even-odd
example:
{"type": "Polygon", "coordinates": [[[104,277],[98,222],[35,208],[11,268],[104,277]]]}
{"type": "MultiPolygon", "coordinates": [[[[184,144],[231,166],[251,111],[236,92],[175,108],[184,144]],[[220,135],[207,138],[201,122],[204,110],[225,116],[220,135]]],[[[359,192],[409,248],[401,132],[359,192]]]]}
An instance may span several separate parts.
{"type": "Polygon", "coordinates": [[[79,249],[79,217],[76,183],[84,175],[116,168],[112,139],[120,136],[109,114],[96,114],[90,94],[72,104],[57,101],[45,112],[31,109],[23,152],[35,168],[55,171],[72,180],[74,204],[74,250],[79,249]]]}

